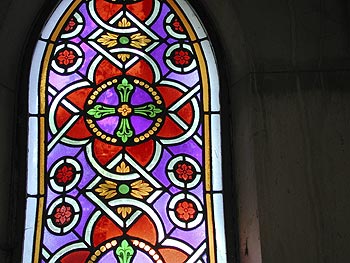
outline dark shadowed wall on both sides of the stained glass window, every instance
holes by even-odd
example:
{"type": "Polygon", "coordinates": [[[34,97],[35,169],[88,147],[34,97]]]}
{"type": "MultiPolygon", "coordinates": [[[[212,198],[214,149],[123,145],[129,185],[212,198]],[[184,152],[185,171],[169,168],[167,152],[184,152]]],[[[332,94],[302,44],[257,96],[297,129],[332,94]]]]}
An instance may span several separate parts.
{"type": "MultiPolygon", "coordinates": [[[[54,1],[0,2],[2,262],[19,262],[21,253],[16,227],[23,222],[25,161],[19,153],[25,147],[19,142],[26,128],[17,92],[26,82],[30,39],[44,2],[54,1]]],[[[226,151],[233,156],[225,180],[235,193],[226,189],[227,201],[238,200],[241,262],[348,262],[350,4],[196,0],[193,5],[216,43],[224,112],[231,120],[223,123],[229,131],[226,151]]],[[[227,222],[230,238],[232,222],[227,222]]],[[[230,253],[230,262],[233,257],[230,253]]]]}

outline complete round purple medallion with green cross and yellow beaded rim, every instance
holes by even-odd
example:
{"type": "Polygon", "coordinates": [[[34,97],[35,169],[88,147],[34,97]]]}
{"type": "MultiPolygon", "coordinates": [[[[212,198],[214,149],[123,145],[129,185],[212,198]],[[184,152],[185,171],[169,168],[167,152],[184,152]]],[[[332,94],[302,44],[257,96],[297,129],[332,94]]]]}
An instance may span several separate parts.
{"type": "Polygon", "coordinates": [[[131,76],[94,89],[85,104],[85,122],[99,139],[131,146],[151,139],[164,123],[165,106],[149,83],[131,76]]]}

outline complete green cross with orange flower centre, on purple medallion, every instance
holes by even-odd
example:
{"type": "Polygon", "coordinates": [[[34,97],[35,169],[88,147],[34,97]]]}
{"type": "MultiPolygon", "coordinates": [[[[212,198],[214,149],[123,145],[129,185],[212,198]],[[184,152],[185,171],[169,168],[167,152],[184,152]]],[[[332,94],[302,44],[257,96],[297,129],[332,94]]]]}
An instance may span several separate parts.
{"type": "Polygon", "coordinates": [[[131,137],[134,136],[134,129],[130,122],[131,115],[139,115],[149,119],[153,119],[162,109],[156,107],[152,103],[133,107],[130,104],[130,98],[135,91],[135,87],[124,78],[117,87],[115,87],[117,93],[119,93],[121,104],[117,107],[110,107],[100,103],[96,103],[93,108],[87,111],[87,114],[95,119],[102,119],[107,116],[119,115],[120,122],[114,131],[115,135],[121,139],[123,143],[126,143],[131,137]]]}

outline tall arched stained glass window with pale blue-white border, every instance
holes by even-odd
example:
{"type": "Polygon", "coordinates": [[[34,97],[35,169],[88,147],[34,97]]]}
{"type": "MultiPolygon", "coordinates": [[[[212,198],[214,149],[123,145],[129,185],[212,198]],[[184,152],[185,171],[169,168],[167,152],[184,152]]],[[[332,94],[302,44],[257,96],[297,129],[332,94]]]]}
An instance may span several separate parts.
{"type": "Polygon", "coordinates": [[[63,0],[29,83],[23,262],[226,262],[219,81],[184,0],[63,0]]]}

